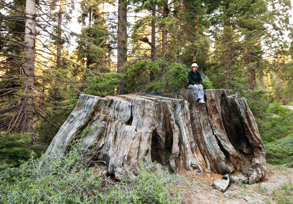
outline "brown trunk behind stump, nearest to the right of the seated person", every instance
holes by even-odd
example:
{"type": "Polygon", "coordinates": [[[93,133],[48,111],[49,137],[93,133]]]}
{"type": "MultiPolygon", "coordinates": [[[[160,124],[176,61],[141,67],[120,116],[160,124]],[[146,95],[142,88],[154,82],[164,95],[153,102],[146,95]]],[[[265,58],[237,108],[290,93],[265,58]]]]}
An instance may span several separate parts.
{"type": "Polygon", "coordinates": [[[225,79],[225,87],[230,88],[230,71],[231,71],[231,62],[232,62],[232,50],[231,50],[231,23],[230,21],[224,21],[224,65],[226,68],[226,79],[225,79]]]}

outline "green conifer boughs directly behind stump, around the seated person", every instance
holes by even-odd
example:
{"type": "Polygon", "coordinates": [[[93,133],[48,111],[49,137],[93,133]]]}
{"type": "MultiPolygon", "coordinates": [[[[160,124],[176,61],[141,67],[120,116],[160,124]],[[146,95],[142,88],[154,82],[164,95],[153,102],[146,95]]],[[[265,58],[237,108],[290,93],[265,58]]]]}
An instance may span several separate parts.
{"type": "MultiPolygon", "coordinates": [[[[128,65],[126,84],[128,92],[164,92],[175,93],[187,89],[187,73],[190,68],[183,64],[171,63],[164,60],[137,61],[128,65]],[[150,81],[150,73],[154,73],[150,81]]],[[[212,82],[202,74],[203,87],[211,89],[212,82]]]]}

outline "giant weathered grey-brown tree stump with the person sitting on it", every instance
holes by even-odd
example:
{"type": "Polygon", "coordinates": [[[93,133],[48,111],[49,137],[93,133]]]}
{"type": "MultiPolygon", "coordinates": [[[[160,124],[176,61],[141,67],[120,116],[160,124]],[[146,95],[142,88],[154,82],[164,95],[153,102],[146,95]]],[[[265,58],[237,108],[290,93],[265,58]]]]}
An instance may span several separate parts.
{"type": "Polygon", "coordinates": [[[207,105],[192,90],[174,95],[84,95],[46,154],[59,159],[80,133],[83,163],[104,161],[115,178],[135,176],[144,159],[183,165],[199,174],[243,172],[249,182],[265,178],[265,148],[244,98],[231,90],[205,90],[207,105]]]}

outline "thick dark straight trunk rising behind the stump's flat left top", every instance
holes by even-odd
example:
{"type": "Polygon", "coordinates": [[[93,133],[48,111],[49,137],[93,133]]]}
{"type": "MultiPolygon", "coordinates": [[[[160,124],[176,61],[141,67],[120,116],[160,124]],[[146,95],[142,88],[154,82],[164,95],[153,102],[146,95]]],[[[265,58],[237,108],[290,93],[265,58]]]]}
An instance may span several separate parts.
{"type": "MultiPolygon", "coordinates": [[[[117,29],[117,73],[125,73],[124,63],[127,61],[127,5],[126,0],[118,0],[118,29],[117,29]]],[[[125,94],[124,77],[120,78],[117,87],[118,94],[125,94]]]]}

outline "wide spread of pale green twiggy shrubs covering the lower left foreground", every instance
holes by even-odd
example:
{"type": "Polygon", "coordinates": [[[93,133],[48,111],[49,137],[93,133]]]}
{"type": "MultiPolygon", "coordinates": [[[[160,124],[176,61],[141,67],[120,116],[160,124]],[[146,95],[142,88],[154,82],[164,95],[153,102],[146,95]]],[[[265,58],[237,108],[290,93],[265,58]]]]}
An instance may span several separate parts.
{"type": "Polygon", "coordinates": [[[180,203],[182,191],[174,188],[176,176],[141,166],[135,178],[107,184],[95,168],[82,165],[77,142],[58,161],[45,156],[19,167],[0,164],[0,203],[180,203]],[[40,165],[40,159],[47,161],[40,165]]]}

